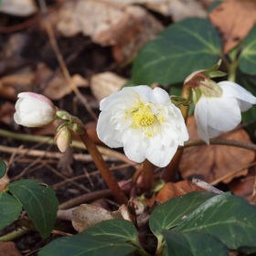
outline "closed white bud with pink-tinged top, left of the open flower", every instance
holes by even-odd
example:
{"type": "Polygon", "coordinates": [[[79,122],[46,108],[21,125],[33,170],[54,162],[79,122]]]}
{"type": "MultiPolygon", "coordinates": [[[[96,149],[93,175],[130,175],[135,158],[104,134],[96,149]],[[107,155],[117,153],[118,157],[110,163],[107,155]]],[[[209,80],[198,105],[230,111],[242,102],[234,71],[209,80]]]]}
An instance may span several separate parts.
{"type": "Polygon", "coordinates": [[[40,127],[53,122],[57,107],[47,97],[34,92],[17,95],[15,122],[27,127],[40,127]]]}

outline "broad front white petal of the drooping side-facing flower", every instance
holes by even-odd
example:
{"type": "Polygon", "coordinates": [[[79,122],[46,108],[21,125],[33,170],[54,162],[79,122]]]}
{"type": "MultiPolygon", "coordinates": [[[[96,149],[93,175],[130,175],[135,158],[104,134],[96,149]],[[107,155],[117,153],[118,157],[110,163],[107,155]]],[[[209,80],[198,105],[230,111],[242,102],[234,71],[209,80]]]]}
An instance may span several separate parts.
{"type": "Polygon", "coordinates": [[[207,98],[208,125],[219,131],[230,131],[241,121],[240,107],[234,98],[207,98]]]}

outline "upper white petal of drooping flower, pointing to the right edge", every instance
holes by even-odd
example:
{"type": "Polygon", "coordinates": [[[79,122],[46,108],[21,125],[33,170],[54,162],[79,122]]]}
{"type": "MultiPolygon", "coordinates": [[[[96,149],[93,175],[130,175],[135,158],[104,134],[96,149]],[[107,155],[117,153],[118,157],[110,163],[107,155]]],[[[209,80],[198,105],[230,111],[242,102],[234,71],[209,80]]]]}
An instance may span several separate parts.
{"type": "Polygon", "coordinates": [[[237,98],[241,101],[247,101],[251,104],[256,104],[256,98],[250,91],[245,90],[239,84],[232,81],[221,81],[218,83],[223,91],[223,98],[237,98]]]}

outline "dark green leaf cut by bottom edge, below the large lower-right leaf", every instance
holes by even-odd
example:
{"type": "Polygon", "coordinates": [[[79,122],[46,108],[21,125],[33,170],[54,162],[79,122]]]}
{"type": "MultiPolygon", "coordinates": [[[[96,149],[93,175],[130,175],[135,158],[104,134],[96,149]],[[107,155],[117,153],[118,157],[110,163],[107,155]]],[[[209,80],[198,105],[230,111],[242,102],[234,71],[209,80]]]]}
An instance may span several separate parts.
{"type": "Polygon", "coordinates": [[[226,246],[208,234],[182,233],[175,230],[162,231],[166,255],[172,256],[229,256],[226,246]]]}

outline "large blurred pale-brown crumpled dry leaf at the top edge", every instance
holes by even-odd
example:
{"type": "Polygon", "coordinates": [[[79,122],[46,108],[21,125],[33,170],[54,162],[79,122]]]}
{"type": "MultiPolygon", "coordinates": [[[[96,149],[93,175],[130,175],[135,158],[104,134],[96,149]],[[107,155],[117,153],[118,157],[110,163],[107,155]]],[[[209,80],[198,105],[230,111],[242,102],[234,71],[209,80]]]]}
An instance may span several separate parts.
{"type": "Polygon", "coordinates": [[[69,1],[58,14],[57,29],[66,37],[80,32],[102,46],[115,46],[118,62],[131,59],[164,27],[141,6],[111,1],[69,1]]]}

